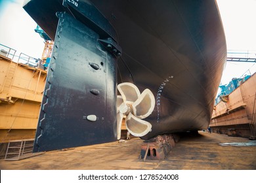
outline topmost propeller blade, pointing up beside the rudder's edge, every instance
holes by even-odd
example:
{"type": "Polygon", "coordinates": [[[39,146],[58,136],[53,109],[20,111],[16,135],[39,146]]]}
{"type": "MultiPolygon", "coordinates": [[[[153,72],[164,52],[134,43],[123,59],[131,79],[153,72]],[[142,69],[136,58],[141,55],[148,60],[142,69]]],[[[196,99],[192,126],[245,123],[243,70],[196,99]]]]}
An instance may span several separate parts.
{"type": "Polygon", "coordinates": [[[121,96],[123,97],[123,101],[125,103],[133,103],[135,102],[139,96],[140,91],[134,84],[130,82],[123,82],[117,85],[117,90],[120,92],[121,96]]]}

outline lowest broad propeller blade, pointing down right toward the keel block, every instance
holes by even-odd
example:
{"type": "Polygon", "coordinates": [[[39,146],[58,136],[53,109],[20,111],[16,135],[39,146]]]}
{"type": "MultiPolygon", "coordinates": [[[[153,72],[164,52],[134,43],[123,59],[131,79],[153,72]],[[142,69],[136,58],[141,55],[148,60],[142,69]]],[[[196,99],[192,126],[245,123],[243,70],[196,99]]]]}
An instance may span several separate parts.
{"type": "Polygon", "coordinates": [[[130,113],[126,118],[126,127],[131,135],[142,137],[150,132],[152,125],[149,122],[140,120],[130,113]]]}

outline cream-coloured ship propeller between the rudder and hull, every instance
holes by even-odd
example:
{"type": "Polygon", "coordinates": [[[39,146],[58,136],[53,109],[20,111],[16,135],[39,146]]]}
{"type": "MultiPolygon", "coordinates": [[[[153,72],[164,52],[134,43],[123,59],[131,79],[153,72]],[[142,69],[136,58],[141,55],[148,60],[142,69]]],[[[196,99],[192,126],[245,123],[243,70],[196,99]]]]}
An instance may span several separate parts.
{"type": "Polygon", "coordinates": [[[140,93],[135,84],[123,82],[117,85],[121,95],[117,95],[117,139],[121,138],[121,124],[135,137],[142,137],[151,131],[152,125],[145,120],[154,110],[155,97],[145,89],[140,93]]]}

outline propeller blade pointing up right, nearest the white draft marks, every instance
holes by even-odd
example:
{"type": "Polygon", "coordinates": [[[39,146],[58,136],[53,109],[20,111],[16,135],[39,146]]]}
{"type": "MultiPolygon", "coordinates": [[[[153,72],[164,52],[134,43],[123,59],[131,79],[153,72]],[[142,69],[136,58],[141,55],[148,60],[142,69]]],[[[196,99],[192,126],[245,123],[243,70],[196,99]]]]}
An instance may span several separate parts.
{"type": "Polygon", "coordinates": [[[155,103],[156,101],[153,93],[148,89],[144,90],[139,99],[132,105],[134,115],[140,119],[148,117],[153,112],[155,103]]]}

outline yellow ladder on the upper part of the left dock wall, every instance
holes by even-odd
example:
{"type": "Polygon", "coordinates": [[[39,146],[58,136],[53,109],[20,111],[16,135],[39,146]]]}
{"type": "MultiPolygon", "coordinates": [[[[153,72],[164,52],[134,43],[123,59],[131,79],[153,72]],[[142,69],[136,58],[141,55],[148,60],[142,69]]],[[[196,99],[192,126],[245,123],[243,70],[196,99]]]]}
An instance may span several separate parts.
{"type": "Polygon", "coordinates": [[[11,61],[7,71],[7,75],[5,76],[5,82],[3,84],[3,88],[0,93],[7,93],[7,96],[9,95],[17,66],[18,66],[18,63],[11,61]]]}

